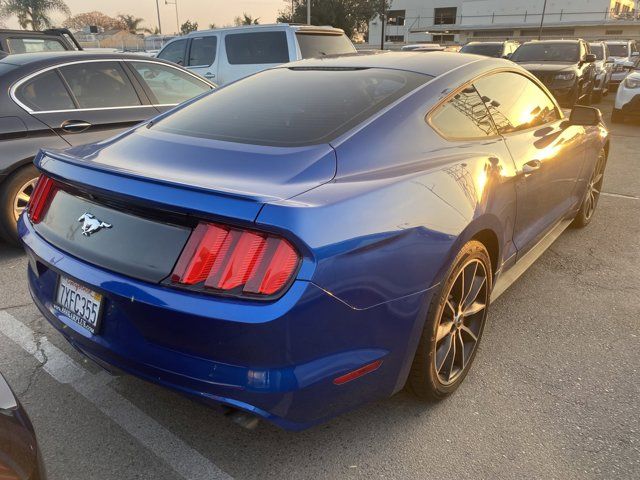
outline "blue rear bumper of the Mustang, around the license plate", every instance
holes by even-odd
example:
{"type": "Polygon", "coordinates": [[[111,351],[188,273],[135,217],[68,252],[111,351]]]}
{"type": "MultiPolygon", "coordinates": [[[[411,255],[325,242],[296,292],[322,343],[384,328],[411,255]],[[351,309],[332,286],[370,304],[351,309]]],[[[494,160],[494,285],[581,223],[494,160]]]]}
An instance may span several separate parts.
{"type": "Polygon", "coordinates": [[[430,291],[358,310],[313,283],[296,281],[264,304],[144,283],[86,264],[43,240],[30,222],[19,232],[29,256],[34,301],[78,350],[124,372],[211,403],[300,430],[400,389],[413,359],[430,291]],[[104,296],[91,335],[53,308],[67,275],[104,296]],[[376,360],[378,370],[333,380],[376,360]]]}

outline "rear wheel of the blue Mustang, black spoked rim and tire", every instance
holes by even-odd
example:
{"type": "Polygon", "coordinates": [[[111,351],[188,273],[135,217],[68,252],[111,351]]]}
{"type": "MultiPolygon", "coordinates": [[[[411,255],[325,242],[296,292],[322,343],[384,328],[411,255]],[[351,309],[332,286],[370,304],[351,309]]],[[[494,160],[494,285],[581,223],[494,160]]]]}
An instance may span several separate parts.
{"type": "Polygon", "coordinates": [[[442,400],[456,391],[478,350],[493,287],[491,260],[484,245],[475,240],[466,243],[445,278],[431,301],[408,379],[416,396],[429,401],[442,400]],[[464,288],[467,296],[474,298],[462,302],[467,315],[454,316],[460,312],[458,303],[463,295],[461,276],[469,286],[464,288]],[[469,278],[474,279],[470,284],[469,278]]]}

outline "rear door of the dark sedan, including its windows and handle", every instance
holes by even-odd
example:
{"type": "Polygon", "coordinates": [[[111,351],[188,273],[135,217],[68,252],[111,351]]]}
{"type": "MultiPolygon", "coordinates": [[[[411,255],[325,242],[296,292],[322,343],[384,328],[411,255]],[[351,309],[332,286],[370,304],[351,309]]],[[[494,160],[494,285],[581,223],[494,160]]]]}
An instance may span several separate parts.
{"type": "Polygon", "coordinates": [[[104,140],[157,112],[117,60],[49,69],[23,81],[16,97],[71,145],[104,140]]]}

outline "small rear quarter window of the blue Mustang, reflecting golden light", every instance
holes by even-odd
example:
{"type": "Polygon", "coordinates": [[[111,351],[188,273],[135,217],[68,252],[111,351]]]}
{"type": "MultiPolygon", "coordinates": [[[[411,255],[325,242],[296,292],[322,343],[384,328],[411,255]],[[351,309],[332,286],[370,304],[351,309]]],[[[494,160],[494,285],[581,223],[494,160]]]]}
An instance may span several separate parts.
{"type": "Polygon", "coordinates": [[[438,107],[429,120],[447,138],[484,138],[497,133],[487,107],[472,86],[438,107]]]}

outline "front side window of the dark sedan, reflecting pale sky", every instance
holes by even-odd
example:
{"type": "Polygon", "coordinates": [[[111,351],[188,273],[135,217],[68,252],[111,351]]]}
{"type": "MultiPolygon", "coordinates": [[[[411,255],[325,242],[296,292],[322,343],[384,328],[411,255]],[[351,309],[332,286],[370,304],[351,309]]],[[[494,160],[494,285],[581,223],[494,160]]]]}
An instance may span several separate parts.
{"type": "Polygon", "coordinates": [[[155,97],[156,104],[182,103],[211,87],[186,72],[167,65],[151,62],[131,62],[131,66],[142,77],[155,97]]]}

